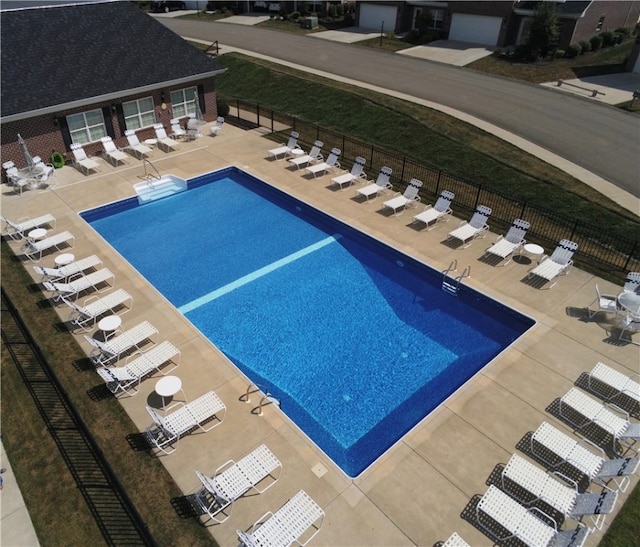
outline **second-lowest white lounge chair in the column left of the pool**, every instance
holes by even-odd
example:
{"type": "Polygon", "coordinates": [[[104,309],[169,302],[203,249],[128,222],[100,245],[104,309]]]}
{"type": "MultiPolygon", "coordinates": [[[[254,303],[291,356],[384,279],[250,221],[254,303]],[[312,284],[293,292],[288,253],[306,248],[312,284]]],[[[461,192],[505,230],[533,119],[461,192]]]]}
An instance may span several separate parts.
{"type": "Polygon", "coordinates": [[[249,491],[262,494],[278,481],[281,471],[280,460],[266,445],[260,445],[237,462],[224,463],[211,477],[196,471],[202,483],[195,492],[196,502],[211,519],[223,523],[231,516],[235,501],[249,491]]]}

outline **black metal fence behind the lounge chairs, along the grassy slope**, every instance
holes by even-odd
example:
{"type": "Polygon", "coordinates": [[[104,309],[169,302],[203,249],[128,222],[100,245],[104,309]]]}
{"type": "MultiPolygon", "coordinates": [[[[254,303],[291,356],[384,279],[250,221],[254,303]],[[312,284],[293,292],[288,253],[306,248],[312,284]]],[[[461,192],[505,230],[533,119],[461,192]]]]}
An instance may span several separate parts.
{"type": "Polygon", "coordinates": [[[265,128],[271,133],[282,133],[285,141],[290,131],[297,131],[300,134],[299,142],[305,145],[321,140],[324,143],[323,149],[340,148],[341,164],[344,168],[350,167],[350,163],[357,156],[367,160],[369,173],[377,173],[385,165],[390,167],[393,169],[391,182],[397,189],[402,190],[412,178],[421,180],[422,202],[433,203],[442,190],[450,190],[455,194],[452,205],[454,213],[462,218],[468,218],[477,205],[487,205],[492,209],[490,224],[493,231],[504,232],[514,219],[522,218],[531,224],[527,241],[553,248],[561,239],[570,239],[578,244],[578,263],[591,263],[599,270],[610,272],[640,270],[638,239],[607,234],[602,226],[587,224],[579,219],[568,218],[566,215],[511,198],[411,158],[382,150],[375,145],[293,116],[261,108],[257,104],[238,99],[229,100],[228,104],[229,116],[240,125],[265,128]]]}

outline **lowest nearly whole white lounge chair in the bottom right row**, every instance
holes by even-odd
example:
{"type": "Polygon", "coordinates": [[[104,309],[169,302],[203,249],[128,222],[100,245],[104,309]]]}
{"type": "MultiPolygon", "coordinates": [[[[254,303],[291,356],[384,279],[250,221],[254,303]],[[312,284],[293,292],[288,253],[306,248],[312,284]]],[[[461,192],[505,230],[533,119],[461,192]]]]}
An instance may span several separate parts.
{"type": "Polygon", "coordinates": [[[578,524],[574,530],[558,530],[550,516],[536,508],[523,507],[494,485],[489,486],[478,502],[476,521],[487,535],[501,544],[517,538],[529,547],[582,547],[591,533],[591,530],[582,524],[578,524]],[[495,525],[488,526],[483,523],[483,514],[505,528],[508,535],[498,536],[495,525]],[[549,523],[554,525],[551,526],[549,523]]]}

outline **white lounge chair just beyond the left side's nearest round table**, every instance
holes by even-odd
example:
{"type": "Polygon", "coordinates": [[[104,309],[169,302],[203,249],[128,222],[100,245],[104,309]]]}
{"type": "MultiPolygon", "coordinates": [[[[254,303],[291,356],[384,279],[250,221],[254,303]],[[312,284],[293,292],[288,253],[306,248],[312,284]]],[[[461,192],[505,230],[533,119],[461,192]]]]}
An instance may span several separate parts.
{"type": "Polygon", "coordinates": [[[164,341],[156,344],[145,352],[137,351],[131,354],[124,365],[119,367],[101,367],[96,369],[104,380],[107,388],[116,397],[118,395],[133,396],[138,392],[140,382],[154,372],[163,376],[163,365],[172,363],[175,370],[180,365],[180,350],[171,342],[164,341]],[[132,359],[129,361],[129,359],[132,359]]]}

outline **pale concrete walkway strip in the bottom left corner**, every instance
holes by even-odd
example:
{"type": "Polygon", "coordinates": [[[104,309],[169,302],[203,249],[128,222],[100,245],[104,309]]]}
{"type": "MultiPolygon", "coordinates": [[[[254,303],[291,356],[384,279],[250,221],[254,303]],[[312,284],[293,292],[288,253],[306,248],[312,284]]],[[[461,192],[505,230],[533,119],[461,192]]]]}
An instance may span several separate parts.
{"type": "Polygon", "coordinates": [[[33,547],[40,545],[31,523],[31,517],[16,483],[13,469],[4,445],[0,441],[0,467],[7,470],[2,474],[3,488],[0,490],[0,545],[8,547],[33,547]]]}

